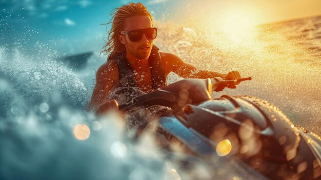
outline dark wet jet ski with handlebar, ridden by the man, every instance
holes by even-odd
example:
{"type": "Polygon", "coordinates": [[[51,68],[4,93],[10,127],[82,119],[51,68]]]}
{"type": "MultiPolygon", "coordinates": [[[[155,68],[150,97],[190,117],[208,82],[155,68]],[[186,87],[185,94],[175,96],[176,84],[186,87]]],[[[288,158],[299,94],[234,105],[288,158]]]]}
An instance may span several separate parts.
{"type": "Polygon", "coordinates": [[[183,79],[134,97],[122,111],[167,107],[150,122],[169,150],[187,154],[235,158],[270,179],[321,179],[321,137],[295,126],[277,107],[249,95],[222,95],[222,91],[251,77],[226,81],[183,79]],[[155,123],[156,122],[156,123],[155,123]]]}

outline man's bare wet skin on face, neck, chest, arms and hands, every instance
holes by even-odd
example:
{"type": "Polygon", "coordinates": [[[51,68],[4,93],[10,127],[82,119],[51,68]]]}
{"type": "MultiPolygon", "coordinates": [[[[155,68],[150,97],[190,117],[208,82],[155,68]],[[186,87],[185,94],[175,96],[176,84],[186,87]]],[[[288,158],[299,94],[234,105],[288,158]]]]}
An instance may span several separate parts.
{"type": "MultiPolygon", "coordinates": [[[[133,16],[126,19],[124,31],[151,27],[153,26],[149,16],[133,16]]],[[[151,71],[148,66],[148,57],[151,53],[153,40],[148,39],[145,34],[141,41],[138,42],[131,42],[127,34],[119,34],[118,38],[125,46],[126,57],[134,71],[139,89],[144,92],[150,92],[152,90],[152,78],[151,71]]],[[[221,74],[214,71],[198,71],[197,73],[194,73],[196,68],[184,63],[184,61],[178,56],[166,52],[159,52],[159,54],[162,58],[166,76],[170,72],[174,72],[184,78],[212,78],[217,76],[226,79],[240,78],[237,71],[232,71],[228,74],[221,74]]],[[[117,88],[118,78],[119,69],[115,62],[107,62],[99,67],[96,73],[96,85],[94,87],[88,109],[98,108],[97,112],[101,114],[108,109],[118,108],[115,101],[105,102],[109,92],[112,89],[117,88]]]]}

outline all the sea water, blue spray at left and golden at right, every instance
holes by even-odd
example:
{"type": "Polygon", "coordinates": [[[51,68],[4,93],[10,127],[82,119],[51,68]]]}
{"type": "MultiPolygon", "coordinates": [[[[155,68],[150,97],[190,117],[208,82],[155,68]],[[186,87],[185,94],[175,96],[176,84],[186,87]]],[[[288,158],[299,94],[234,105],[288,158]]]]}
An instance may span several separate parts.
{"type": "MultiPolygon", "coordinates": [[[[320,134],[321,17],[258,26],[229,36],[197,23],[156,22],[160,51],[199,69],[237,70],[252,81],[213,93],[248,94],[279,107],[294,124],[320,134]],[[214,32],[209,34],[207,32],[214,32]]],[[[32,34],[32,36],[35,36],[32,34]]],[[[95,52],[84,69],[56,61],[48,44],[0,48],[1,179],[208,179],[262,178],[237,162],[214,158],[182,168],[145,135],[133,143],[115,112],[87,112],[97,68],[95,52]]],[[[179,77],[171,74],[168,82],[179,77]]]]}

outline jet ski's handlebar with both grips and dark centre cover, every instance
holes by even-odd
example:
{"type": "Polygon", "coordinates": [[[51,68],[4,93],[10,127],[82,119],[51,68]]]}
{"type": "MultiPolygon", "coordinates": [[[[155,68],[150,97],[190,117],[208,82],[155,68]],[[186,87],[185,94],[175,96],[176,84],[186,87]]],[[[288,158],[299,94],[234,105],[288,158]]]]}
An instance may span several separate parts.
{"type": "Polygon", "coordinates": [[[154,92],[134,97],[132,103],[119,106],[119,110],[128,110],[132,107],[152,105],[166,106],[172,109],[179,109],[182,99],[189,104],[208,100],[212,97],[213,91],[222,91],[230,85],[237,85],[239,82],[251,80],[252,77],[224,80],[221,77],[212,79],[182,79],[178,82],[159,88],[154,92]]]}

